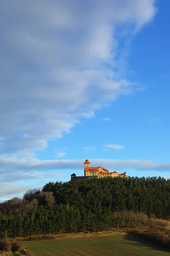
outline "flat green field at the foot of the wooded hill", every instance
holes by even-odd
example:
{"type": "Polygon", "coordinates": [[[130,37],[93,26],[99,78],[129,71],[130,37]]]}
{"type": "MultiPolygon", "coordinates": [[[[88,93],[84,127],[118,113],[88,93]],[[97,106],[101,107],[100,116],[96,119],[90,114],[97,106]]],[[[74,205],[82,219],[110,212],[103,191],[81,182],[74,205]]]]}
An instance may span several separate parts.
{"type": "Polygon", "coordinates": [[[137,235],[55,239],[23,244],[37,256],[170,256],[166,248],[137,235]]]}

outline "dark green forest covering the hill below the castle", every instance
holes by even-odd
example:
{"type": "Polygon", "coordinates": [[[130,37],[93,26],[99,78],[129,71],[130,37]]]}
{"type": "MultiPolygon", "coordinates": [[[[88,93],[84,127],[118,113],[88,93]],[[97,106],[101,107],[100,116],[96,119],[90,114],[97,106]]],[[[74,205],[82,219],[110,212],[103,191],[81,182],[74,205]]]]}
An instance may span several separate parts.
{"type": "Polygon", "coordinates": [[[117,212],[170,217],[170,180],[163,177],[108,177],[49,182],[23,198],[0,203],[0,238],[96,232],[121,227],[117,212]]]}

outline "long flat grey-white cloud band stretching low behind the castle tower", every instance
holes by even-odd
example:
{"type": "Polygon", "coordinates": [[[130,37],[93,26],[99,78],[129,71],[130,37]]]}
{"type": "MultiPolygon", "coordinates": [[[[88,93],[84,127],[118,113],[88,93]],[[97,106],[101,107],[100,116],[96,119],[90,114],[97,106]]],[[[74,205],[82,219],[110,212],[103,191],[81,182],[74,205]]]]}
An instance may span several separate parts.
{"type": "MultiPolygon", "coordinates": [[[[32,159],[16,158],[3,156],[0,157],[0,166],[4,168],[1,170],[1,179],[3,182],[12,181],[14,176],[16,180],[23,180],[24,177],[48,176],[48,170],[64,170],[64,169],[82,169],[84,159],[81,160],[40,160],[32,157],[32,159]],[[8,170],[8,172],[6,172],[8,170]],[[22,170],[25,170],[24,172],[22,170]],[[40,173],[38,173],[40,172],[40,173]],[[26,174],[24,174],[26,173],[26,174]],[[4,175],[4,176],[2,176],[4,175]],[[13,177],[11,176],[13,175],[13,177]]],[[[103,165],[108,169],[135,169],[135,170],[155,170],[155,171],[169,171],[170,163],[156,162],[151,160],[112,160],[112,159],[90,159],[94,166],[103,165]]],[[[61,175],[58,171],[51,173],[51,175],[61,175]]]]}

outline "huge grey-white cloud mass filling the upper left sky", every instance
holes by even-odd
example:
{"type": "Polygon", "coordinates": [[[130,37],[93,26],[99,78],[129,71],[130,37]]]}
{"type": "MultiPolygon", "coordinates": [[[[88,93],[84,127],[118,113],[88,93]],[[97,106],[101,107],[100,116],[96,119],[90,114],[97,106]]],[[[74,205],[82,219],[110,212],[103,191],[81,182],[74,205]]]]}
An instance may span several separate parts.
{"type": "Polygon", "coordinates": [[[155,10],[154,0],[1,1],[0,151],[44,149],[135,90],[117,58],[117,28],[127,40],[155,10]]]}

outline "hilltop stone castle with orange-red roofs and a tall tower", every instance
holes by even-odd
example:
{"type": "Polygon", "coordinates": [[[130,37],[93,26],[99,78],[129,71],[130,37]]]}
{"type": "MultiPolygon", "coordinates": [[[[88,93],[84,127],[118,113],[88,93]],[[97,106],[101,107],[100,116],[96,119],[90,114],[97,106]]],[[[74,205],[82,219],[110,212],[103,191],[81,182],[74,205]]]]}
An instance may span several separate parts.
{"type": "Polygon", "coordinates": [[[91,180],[94,178],[103,178],[103,177],[127,177],[127,173],[120,173],[114,171],[114,172],[109,172],[108,169],[105,167],[99,166],[99,167],[90,167],[90,162],[88,159],[85,160],[84,162],[84,176],[79,176],[76,177],[75,173],[71,175],[71,181],[76,181],[76,180],[91,180]]]}

